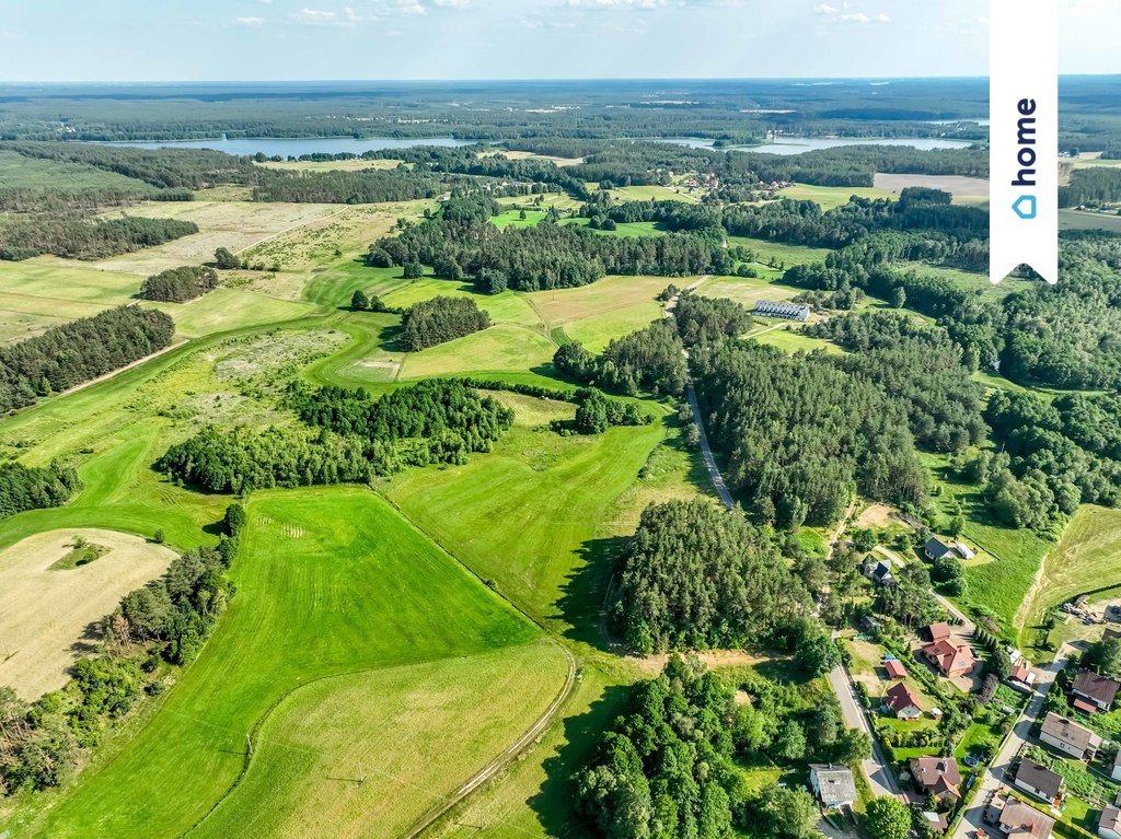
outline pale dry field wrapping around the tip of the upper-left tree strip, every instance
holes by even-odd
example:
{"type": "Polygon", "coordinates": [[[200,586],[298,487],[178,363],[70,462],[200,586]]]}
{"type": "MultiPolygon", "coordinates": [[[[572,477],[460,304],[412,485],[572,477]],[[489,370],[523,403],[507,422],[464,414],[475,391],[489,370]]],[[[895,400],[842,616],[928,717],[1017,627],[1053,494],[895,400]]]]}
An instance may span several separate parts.
{"type": "MultiPolygon", "coordinates": [[[[131,207],[128,213],[151,218],[179,218],[194,222],[198,232],[173,242],[126,253],[93,263],[98,268],[142,274],[168,268],[197,265],[214,259],[214,250],[228,248],[238,253],[294,227],[346,211],[339,204],[272,204],[249,201],[152,202],[131,207]]],[[[124,211],[106,213],[120,216],[124,211]]]]}

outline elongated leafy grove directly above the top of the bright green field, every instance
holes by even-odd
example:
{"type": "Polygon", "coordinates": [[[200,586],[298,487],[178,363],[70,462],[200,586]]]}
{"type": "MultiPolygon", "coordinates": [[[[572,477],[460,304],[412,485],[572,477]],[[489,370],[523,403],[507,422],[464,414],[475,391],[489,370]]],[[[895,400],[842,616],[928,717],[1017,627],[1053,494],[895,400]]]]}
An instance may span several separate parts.
{"type": "Polygon", "coordinates": [[[155,468],[209,492],[369,483],[406,466],[462,464],[470,453],[490,451],[513,423],[512,411],[491,397],[439,379],[378,400],[362,390],[293,386],[287,403],[306,425],[207,427],[172,446],[155,468]]]}

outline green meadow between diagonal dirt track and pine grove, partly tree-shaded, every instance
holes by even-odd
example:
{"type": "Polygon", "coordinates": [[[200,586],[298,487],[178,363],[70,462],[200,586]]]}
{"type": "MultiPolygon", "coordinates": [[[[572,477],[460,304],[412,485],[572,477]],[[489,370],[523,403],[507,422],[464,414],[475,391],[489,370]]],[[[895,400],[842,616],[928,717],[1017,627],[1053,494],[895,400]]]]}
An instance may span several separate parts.
{"type": "Polygon", "coordinates": [[[600,523],[665,435],[660,423],[595,437],[515,428],[488,457],[410,472],[386,492],[530,615],[559,631],[594,633],[618,548],[600,523]]]}

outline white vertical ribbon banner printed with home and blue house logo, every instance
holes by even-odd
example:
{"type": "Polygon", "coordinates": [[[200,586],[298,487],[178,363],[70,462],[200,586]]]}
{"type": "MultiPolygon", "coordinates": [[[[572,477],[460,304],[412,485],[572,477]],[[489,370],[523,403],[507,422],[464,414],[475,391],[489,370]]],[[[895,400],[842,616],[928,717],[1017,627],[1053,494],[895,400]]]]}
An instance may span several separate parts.
{"type": "Polygon", "coordinates": [[[989,278],[1058,281],[1058,0],[991,0],[989,278]]]}

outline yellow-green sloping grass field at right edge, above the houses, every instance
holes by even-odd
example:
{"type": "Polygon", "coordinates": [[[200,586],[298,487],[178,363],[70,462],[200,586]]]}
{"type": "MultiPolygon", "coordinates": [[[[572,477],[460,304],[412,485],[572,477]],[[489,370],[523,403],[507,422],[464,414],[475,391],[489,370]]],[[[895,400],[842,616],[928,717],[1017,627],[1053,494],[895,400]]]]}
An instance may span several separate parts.
{"type": "Polygon", "coordinates": [[[1047,554],[1040,585],[1018,613],[1021,640],[1047,609],[1112,585],[1121,585],[1121,510],[1082,506],[1047,554]]]}

